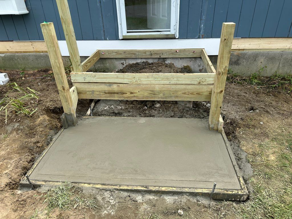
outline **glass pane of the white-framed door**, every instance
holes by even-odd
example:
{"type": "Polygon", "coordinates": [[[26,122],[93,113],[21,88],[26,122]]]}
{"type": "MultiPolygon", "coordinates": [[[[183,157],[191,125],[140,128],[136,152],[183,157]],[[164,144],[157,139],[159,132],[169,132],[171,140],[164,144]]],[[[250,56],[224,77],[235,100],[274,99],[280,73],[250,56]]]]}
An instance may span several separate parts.
{"type": "Polygon", "coordinates": [[[127,32],[169,32],[171,0],[125,0],[127,32]]]}

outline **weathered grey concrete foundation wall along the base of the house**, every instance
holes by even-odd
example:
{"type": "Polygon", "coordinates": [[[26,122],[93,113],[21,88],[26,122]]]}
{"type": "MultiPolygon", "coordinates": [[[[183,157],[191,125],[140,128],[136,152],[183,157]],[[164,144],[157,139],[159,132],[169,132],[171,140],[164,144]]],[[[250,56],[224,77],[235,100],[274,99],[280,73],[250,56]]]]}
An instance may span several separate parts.
{"type": "MultiPolygon", "coordinates": [[[[81,57],[81,62],[87,57],[81,57]]],[[[212,55],[210,59],[216,67],[217,56],[212,55]]],[[[147,60],[149,62],[164,61],[174,63],[177,67],[190,65],[193,72],[206,72],[205,65],[201,58],[101,58],[91,67],[91,71],[112,72],[121,69],[124,65],[134,62],[147,60]]],[[[64,66],[69,65],[68,57],[63,57],[64,66]]],[[[292,51],[273,51],[273,52],[232,52],[229,68],[233,73],[243,76],[251,75],[262,67],[262,75],[271,76],[275,72],[278,74],[291,74],[292,51]]],[[[48,53],[7,53],[0,54],[0,69],[6,70],[36,70],[51,68],[48,53]]]]}

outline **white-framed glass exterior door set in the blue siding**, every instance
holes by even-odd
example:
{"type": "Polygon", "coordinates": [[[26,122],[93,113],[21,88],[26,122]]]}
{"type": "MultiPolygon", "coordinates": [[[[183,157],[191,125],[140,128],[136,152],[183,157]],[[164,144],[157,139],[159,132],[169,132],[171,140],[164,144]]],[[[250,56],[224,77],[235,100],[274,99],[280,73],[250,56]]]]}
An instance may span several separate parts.
{"type": "Polygon", "coordinates": [[[119,39],[177,38],[179,0],[117,0],[119,39]]]}

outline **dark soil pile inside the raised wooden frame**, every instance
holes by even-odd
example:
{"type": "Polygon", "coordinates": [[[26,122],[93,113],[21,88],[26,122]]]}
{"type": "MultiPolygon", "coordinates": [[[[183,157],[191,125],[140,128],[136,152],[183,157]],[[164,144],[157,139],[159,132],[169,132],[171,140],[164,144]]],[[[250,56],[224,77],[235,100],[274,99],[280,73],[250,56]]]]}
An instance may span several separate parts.
{"type": "Polygon", "coordinates": [[[173,63],[165,62],[135,62],[126,65],[124,68],[115,72],[119,73],[192,73],[192,68],[185,65],[181,68],[176,67],[173,63]]]}

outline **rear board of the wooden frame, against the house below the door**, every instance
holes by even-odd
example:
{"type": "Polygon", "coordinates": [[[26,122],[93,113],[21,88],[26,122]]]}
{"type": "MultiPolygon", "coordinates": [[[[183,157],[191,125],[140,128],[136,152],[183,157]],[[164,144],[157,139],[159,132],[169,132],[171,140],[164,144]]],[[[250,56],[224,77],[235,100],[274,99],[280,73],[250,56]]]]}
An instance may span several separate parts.
{"type": "Polygon", "coordinates": [[[201,57],[202,49],[100,50],[100,58],[183,58],[201,57]]]}

